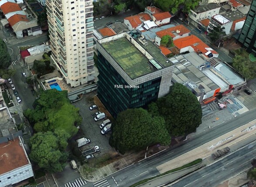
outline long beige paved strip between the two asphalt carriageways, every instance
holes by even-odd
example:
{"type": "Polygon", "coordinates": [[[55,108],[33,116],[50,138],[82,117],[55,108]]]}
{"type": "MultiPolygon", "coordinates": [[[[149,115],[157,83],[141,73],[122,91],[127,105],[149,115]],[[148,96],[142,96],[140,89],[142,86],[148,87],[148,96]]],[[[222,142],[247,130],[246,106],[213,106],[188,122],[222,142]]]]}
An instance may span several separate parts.
{"type": "MultiPolygon", "coordinates": [[[[208,157],[207,159],[211,160],[212,158],[209,156],[211,156],[211,154],[217,151],[218,149],[231,146],[233,144],[238,143],[239,141],[244,140],[249,136],[254,135],[256,131],[255,123],[256,120],[253,120],[246,125],[236,128],[235,130],[230,131],[225,135],[222,135],[212,141],[209,141],[199,146],[198,148],[195,148],[194,150],[188,151],[187,153],[182,154],[171,161],[159,165],[157,169],[160,173],[164,173],[174,168],[181,167],[184,164],[188,164],[198,158],[208,157]]],[[[187,144],[187,146],[189,146],[189,143],[187,144]]]]}

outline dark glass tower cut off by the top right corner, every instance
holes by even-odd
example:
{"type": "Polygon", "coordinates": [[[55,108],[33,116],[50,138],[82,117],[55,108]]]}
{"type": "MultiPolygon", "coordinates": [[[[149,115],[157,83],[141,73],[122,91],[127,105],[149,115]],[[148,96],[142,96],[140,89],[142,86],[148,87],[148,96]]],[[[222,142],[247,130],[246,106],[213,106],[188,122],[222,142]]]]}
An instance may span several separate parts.
{"type": "Polygon", "coordinates": [[[247,52],[256,55],[256,0],[252,1],[246,21],[242,27],[238,41],[247,48],[247,52]]]}

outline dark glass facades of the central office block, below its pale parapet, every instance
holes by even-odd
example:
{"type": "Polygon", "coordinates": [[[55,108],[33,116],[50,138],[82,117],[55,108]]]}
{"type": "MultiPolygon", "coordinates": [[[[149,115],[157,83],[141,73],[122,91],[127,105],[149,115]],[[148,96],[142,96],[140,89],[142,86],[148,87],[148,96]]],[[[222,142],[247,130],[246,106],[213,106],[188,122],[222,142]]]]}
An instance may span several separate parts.
{"type": "Polygon", "coordinates": [[[129,84],[100,52],[98,69],[98,97],[114,118],[127,108],[140,108],[157,99],[161,77],[137,85],[139,88],[126,88],[129,84]]]}

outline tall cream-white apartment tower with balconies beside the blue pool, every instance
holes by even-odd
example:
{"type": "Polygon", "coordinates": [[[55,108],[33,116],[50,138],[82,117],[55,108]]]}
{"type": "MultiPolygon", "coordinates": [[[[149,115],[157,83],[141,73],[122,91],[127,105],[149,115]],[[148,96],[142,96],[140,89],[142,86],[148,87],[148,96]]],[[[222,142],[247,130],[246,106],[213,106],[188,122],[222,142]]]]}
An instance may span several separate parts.
{"type": "Polygon", "coordinates": [[[68,85],[95,78],[93,61],[93,0],[47,0],[52,55],[68,85]]]}

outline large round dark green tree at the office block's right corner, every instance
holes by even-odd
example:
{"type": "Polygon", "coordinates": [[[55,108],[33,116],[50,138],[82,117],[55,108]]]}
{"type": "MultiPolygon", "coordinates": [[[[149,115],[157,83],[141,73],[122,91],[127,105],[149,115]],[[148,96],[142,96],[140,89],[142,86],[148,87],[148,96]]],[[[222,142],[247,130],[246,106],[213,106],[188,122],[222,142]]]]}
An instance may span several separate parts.
{"type": "Polygon", "coordinates": [[[188,135],[201,124],[202,109],[196,96],[180,83],[171,86],[170,92],[149,105],[149,111],[165,119],[168,132],[174,136],[188,135]]]}

